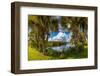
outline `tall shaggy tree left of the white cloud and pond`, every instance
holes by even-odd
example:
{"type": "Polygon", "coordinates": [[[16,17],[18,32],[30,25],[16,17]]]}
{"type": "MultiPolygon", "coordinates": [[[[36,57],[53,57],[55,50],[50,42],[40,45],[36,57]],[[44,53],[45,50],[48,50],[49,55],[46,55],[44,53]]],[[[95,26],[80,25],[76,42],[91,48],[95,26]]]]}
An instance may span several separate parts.
{"type": "Polygon", "coordinates": [[[32,29],[31,37],[33,38],[33,43],[35,43],[40,52],[45,53],[51,23],[50,16],[30,15],[28,20],[29,27],[32,29]]]}

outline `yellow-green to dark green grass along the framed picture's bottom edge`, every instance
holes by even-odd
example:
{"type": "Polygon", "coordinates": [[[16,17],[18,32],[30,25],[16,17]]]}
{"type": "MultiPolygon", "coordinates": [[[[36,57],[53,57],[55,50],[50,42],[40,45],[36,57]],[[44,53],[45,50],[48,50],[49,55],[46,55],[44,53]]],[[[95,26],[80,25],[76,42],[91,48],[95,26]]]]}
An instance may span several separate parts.
{"type": "Polygon", "coordinates": [[[28,48],[28,60],[53,60],[53,59],[79,59],[88,57],[88,47],[84,46],[83,50],[77,51],[75,48],[66,50],[62,54],[55,52],[54,50],[48,50],[48,56],[40,53],[37,49],[28,48]]]}

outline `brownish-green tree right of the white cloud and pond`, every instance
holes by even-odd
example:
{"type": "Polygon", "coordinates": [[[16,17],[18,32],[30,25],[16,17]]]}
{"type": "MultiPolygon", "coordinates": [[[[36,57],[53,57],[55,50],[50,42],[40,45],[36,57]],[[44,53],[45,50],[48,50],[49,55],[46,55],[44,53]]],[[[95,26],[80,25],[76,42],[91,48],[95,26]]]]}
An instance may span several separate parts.
{"type": "Polygon", "coordinates": [[[66,24],[70,24],[71,28],[69,29],[72,34],[71,43],[75,45],[78,49],[80,46],[84,47],[87,37],[87,17],[62,17],[62,25],[67,27],[66,24]],[[79,26],[82,26],[83,31],[80,31],[79,26]]]}

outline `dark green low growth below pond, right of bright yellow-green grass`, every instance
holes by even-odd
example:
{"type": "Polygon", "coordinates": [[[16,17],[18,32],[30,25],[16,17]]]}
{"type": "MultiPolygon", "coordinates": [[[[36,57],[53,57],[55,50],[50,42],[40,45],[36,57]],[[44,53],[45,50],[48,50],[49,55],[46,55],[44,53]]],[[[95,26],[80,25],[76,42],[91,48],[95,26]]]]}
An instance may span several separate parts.
{"type": "Polygon", "coordinates": [[[75,59],[75,58],[86,58],[88,56],[87,46],[83,46],[80,51],[77,51],[75,47],[63,50],[62,52],[57,52],[51,48],[48,48],[47,55],[52,56],[54,59],[75,59]]]}

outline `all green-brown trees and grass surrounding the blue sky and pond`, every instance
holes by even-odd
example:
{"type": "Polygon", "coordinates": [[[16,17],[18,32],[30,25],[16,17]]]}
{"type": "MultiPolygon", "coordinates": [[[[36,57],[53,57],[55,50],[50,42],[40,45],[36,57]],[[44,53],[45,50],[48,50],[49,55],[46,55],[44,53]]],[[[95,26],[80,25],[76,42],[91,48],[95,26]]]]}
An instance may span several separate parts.
{"type": "Polygon", "coordinates": [[[58,19],[52,19],[53,16],[28,16],[28,27],[31,30],[28,33],[29,60],[48,60],[65,58],[86,58],[87,57],[87,23],[86,17],[61,17],[63,28],[71,31],[72,38],[70,43],[74,45],[67,50],[57,52],[48,47],[60,46],[66,42],[48,42],[49,32],[58,31],[58,19]],[[69,26],[70,25],[70,28],[69,26]],[[82,28],[80,31],[79,27],[82,28]],[[48,48],[48,49],[47,49],[48,48]]]}

